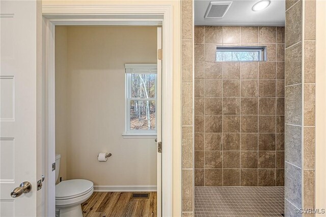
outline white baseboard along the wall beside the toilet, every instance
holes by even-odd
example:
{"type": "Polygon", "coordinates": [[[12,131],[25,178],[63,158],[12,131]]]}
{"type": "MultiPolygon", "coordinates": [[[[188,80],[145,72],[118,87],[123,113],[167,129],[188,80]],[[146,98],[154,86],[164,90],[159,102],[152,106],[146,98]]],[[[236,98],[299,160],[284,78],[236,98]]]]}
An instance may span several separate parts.
{"type": "Polygon", "coordinates": [[[94,192],[156,192],[156,185],[94,185],[94,192]]]}

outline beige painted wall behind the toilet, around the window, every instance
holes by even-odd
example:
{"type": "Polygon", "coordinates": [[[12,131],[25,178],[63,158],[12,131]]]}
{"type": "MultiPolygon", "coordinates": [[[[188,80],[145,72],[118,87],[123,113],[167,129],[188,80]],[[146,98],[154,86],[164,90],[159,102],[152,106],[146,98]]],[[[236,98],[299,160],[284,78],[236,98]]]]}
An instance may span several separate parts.
{"type": "MultiPolygon", "coordinates": [[[[67,36],[67,73],[62,66],[56,69],[56,146],[63,153],[62,175],[66,158],[67,179],[89,179],[94,185],[156,185],[154,139],[121,135],[125,130],[124,64],[156,63],[156,26],[62,29],[60,33],[67,36]],[[112,156],[98,162],[101,151],[112,156]]],[[[57,58],[64,65],[63,38],[57,38],[63,43],[62,56],[58,53],[57,58]]]]}

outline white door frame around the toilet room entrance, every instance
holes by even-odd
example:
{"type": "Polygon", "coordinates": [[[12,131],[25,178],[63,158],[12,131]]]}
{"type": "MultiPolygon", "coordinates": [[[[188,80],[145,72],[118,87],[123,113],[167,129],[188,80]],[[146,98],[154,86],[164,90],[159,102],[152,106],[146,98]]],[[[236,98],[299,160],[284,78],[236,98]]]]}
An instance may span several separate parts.
{"type": "MultiPolygon", "coordinates": [[[[172,216],[172,48],[173,23],[171,5],[144,6],[83,6],[61,5],[42,7],[42,47],[43,47],[43,107],[45,128],[43,134],[45,150],[43,174],[46,180],[45,212],[55,215],[55,26],[56,25],[162,25],[162,216],[172,216]]],[[[159,180],[157,180],[158,182],[159,180]]]]}

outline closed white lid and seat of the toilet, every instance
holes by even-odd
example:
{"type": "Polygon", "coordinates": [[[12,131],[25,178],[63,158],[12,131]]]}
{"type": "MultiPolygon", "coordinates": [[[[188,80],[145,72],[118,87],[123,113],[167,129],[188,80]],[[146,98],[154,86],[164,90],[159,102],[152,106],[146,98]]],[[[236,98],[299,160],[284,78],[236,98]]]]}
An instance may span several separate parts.
{"type": "Polygon", "coordinates": [[[71,179],[56,185],[56,199],[82,196],[93,189],[93,182],[86,179],[71,179]]]}

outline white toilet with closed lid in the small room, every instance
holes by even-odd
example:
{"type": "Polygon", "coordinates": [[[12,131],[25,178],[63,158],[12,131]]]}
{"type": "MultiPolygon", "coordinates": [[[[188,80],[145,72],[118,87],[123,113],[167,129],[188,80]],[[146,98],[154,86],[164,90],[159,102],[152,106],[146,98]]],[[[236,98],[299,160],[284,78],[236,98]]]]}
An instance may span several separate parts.
{"type": "MultiPolygon", "coordinates": [[[[60,154],[56,154],[56,181],[59,178],[60,154]]],[[[94,192],[93,182],[86,179],[71,179],[56,185],[56,217],[83,217],[81,204],[94,192]]]]}

